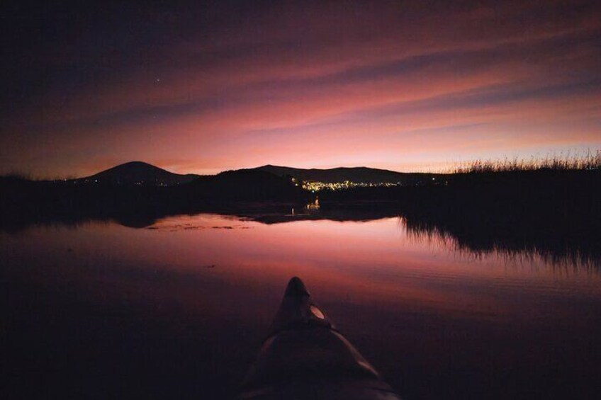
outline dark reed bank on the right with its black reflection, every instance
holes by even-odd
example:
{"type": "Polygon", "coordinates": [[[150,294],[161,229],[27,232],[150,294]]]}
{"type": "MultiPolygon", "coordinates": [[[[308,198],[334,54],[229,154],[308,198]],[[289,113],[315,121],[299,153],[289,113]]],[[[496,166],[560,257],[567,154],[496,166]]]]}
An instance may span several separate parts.
{"type": "Polygon", "coordinates": [[[601,266],[601,169],[456,173],[441,183],[322,193],[322,207],[380,203],[414,233],[474,252],[532,253],[601,266]],[[386,204],[386,206],[385,206],[386,204]]]}

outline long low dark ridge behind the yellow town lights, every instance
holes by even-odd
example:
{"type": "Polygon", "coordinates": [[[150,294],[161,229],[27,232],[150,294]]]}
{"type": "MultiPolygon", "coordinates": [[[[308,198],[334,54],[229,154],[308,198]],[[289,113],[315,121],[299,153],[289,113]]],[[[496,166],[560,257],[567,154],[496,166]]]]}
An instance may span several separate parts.
{"type": "Polygon", "coordinates": [[[254,169],[257,171],[273,173],[276,176],[292,176],[300,181],[320,181],[324,183],[344,181],[356,183],[410,183],[437,176],[437,174],[434,173],[402,173],[389,171],[387,169],[367,168],[364,166],[352,168],[303,169],[291,168],[288,166],[265,165],[254,169]]]}

